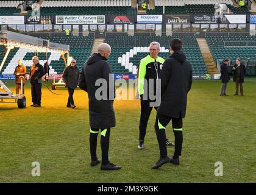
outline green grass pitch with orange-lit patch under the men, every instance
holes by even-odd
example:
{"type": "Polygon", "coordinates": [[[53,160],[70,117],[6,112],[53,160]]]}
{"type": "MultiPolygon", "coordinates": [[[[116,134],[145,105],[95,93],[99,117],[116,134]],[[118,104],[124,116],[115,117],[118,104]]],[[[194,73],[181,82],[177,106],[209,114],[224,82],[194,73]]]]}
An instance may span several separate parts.
{"type": "MultiPolygon", "coordinates": [[[[13,83],[8,82],[15,91],[13,83]]],[[[194,81],[183,121],[180,166],[151,169],[159,158],[151,113],[144,151],[139,151],[140,101],[115,101],[116,127],[112,129],[110,161],[119,171],[90,166],[87,93],[76,90],[77,108],[66,108],[67,90],[54,95],[43,87],[42,107],[0,104],[0,182],[256,182],[256,79],[246,79],[244,96],[233,96],[235,83],[220,97],[221,82],[194,81]],[[32,177],[38,161],[40,177],[32,177]],[[223,176],[215,176],[215,163],[223,163],[223,176]]],[[[174,141],[171,126],[166,128],[174,141]]],[[[101,150],[98,141],[98,157],[101,150]]],[[[173,147],[168,147],[171,157],[173,147]]]]}

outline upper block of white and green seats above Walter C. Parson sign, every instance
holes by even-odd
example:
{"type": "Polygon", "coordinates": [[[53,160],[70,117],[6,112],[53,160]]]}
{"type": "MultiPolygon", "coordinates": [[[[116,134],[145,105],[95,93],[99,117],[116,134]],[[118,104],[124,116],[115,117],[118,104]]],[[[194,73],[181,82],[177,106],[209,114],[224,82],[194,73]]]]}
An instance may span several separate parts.
{"type": "Polygon", "coordinates": [[[137,9],[131,6],[131,0],[43,1],[40,11],[41,15],[137,15],[137,9]]]}

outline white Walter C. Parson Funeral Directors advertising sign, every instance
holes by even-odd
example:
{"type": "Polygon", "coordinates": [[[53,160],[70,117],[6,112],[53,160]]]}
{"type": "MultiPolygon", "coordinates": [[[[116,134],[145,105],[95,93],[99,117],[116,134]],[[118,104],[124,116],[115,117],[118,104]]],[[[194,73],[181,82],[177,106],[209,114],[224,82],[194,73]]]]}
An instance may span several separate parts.
{"type": "Polygon", "coordinates": [[[105,24],[105,16],[56,16],[56,24],[105,24]]]}

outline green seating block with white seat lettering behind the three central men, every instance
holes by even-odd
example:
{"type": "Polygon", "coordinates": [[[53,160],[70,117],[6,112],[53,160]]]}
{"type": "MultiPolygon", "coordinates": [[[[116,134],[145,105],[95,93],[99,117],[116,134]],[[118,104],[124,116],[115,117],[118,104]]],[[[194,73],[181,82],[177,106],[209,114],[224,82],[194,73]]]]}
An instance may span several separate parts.
{"type": "MultiPolygon", "coordinates": [[[[194,36],[178,35],[175,36],[183,40],[183,51],[191,62],[194,74],[206,74],[207,69],[202,58],[201,51],[194,36]]],[[[158,41],[162,48],[160,56],[164,59],[169,57],[169,41],[174,38],[171,36],[149,36],[135,35],[112,35],[105,39],[105,43],[112,46],[112,55],[110,55],[110,65],[113,73],[128,74],[133,73],[138,68],[140,60],[148,55],[148,46],[152,41],[158,41]],[[121,66],[120,66],[121,64],[121,66]]]]}

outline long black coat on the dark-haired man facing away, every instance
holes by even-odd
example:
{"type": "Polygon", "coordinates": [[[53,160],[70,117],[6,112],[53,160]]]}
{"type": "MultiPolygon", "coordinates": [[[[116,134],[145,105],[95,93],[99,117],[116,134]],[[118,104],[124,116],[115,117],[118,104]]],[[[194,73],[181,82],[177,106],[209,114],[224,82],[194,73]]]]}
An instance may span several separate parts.
{"type": "Polygon", "coordinates": [[[187,109],[187,93],[192,85],[192,69],[186,55],[176,50],[163,63],[160,73],[161,104],[157,113],[172,118],[184,118],[187,109]]]}

